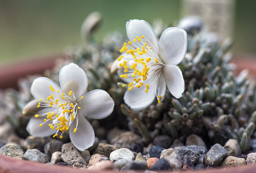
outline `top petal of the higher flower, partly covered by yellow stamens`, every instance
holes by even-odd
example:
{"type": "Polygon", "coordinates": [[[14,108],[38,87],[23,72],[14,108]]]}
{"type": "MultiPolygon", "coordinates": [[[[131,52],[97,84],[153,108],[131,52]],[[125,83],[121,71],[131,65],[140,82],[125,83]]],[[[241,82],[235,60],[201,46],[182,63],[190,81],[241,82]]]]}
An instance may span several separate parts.
{"type": "MultiPolygon", "coordinates": [[[[158,42],[156,38],[156,34],[153,30],[153,28],[148,24],[148,22],[144,20],[138,20],[138,19],[131,19],[130,21],[126,22],[126,33],[129,40],[133,43],[133,39],[136,39],[136,36],[140,37],[144,35],[144,39],[141,39],[144,42],[147,42],[148,47],[152,46],[152,49],[155,49],[155,52],[159,54],[159,48],[158,48],[158,42]],[[148,41],[151,42],[151,44],[145,39],[147,38],[148,41]]],[[[135,46],[137,46],[137,43],[140,44],[140,47],[144,46],[141,41],[138,41],[134,43],[135,46]]]]}

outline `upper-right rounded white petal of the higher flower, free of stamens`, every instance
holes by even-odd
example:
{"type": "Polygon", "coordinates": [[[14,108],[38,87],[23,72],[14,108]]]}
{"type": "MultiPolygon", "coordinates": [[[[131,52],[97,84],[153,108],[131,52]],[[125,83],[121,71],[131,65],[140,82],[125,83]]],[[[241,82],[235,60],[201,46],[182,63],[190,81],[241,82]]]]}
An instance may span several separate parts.
{"type": "Polygon", "coordinates": [[[179,64],[187,52],[187,33],[170,27],[164,30],[159,40],[160,58],[164,64],[179,64]]]}

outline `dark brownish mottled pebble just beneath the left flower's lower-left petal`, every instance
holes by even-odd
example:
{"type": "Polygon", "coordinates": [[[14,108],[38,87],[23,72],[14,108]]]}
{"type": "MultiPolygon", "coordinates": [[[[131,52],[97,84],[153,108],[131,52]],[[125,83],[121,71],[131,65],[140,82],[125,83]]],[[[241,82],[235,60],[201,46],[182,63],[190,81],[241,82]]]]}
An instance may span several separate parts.
{"type": "Polygon", "coordinates": [[[44,152],[44,146],[50,142],[49,138],[47,137],[41,137],[41,138],[36,138],[34,136],[28,136],[25,139],[25,146],[27,149],[38,149],[41,152],[44,152]]]}

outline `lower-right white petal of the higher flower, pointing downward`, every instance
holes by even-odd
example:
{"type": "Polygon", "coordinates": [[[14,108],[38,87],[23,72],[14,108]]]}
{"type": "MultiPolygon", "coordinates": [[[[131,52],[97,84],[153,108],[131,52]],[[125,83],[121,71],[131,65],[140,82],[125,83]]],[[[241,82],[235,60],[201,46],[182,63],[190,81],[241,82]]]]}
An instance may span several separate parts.
{"type": "Polygon", "coordinates": [[[166,86],[177,99],[182,96],[185,89],[182,72],[176,65],[166,64],[163,68],[166,86]]]}

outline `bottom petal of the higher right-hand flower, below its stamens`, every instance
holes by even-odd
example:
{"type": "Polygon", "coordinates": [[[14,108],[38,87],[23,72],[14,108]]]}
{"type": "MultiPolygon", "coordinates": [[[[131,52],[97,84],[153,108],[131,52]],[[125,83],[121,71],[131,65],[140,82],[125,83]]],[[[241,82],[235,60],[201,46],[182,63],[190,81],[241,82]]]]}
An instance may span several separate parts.
{"type": "Polygon", "coordinates": [[[146,87],[134,87],[130,91],[127,89],[124,93],[124,103],[132,110],[142,110],[147,108],[156,98],[155,86],[149,88],[145,93],[146,87]]]}

